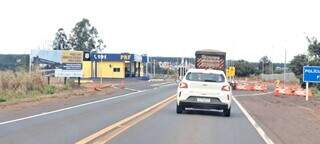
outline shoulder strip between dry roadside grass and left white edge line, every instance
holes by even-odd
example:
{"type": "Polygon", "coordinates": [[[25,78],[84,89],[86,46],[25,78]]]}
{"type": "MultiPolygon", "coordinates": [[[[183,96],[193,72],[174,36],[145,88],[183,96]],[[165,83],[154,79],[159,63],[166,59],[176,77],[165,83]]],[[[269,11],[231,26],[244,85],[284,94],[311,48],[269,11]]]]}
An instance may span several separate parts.
{"type": "Polygon", "coordinates": [[[0,122],[63,109],[130,92],[132,91],[113,87],[104,88],[99,91],[88,91],[79,88],[48,97],[40,97],[39,99],[30,98],[15,103],[3,103],[0,104],[0,122]]]}

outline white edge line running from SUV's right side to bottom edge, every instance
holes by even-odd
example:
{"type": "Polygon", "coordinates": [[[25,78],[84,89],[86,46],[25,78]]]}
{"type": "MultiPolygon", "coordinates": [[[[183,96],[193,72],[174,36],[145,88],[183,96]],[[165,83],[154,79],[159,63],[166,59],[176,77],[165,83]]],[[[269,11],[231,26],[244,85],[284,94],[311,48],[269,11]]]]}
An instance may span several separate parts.
{"type": "Polygon", "coordinates": [[[235,97],[232,97],[234,102],[238,105],[242,113],[247,117],[249,122],[252,124],[252,126],[257,130],[259,135],[262,137],[262,139],[267,143],[267,144],[274,144],[273,141],[269,138],[269,136],[263,131],[263,129],[259,126],[259,124],[250,116],[248,111],[242,107],[242,105],[238,102],[238,100],[235,97]]]}

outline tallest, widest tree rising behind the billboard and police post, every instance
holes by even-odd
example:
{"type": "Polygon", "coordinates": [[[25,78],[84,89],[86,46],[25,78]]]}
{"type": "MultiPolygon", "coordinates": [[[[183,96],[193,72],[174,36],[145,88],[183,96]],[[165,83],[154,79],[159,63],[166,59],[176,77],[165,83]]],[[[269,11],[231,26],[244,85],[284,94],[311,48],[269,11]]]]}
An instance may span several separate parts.
{"type": "Polygon", "coordinates": [[[102,51],[106,47],[98,36],[98,30],[85,18],[72,29],[69,44],[72,49],[78,51],[102,51]]]}

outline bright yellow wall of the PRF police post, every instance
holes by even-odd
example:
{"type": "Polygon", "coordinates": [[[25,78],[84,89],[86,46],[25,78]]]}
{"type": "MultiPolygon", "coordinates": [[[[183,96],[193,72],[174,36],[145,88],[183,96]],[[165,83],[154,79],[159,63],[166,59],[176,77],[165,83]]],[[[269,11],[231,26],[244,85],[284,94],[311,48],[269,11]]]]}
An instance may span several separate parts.
{"type": "Polygon", "coordinates": [[[124,62],[103,61],[97,63],[97,77],[124,78],[124,62]],[[120,68],[120,72],[114,72],[114,68],[120,68]]]}

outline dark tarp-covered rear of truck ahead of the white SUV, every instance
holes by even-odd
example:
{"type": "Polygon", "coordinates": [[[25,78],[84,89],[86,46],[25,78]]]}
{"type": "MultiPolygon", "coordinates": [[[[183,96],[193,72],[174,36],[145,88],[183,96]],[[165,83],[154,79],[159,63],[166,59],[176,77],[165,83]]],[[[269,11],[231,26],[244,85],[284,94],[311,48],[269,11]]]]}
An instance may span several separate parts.
{"type": "Polygon", "coordinates": [[[225,69],[226,53],[217,50],[199,50],[196,52],[196,68],[225,69]]]}

